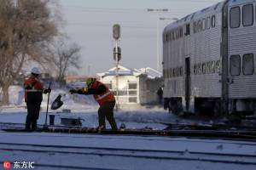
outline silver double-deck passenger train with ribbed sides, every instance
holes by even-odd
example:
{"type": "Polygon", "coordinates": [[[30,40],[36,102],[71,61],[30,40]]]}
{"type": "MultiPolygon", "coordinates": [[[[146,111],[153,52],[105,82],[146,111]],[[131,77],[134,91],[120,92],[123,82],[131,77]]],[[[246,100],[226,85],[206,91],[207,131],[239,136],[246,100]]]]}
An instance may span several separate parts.
{"type": "Polygon", "coordinates": [[[163,31],[165,108],[256,112],[256,0],[226,0],[163,31]]]}

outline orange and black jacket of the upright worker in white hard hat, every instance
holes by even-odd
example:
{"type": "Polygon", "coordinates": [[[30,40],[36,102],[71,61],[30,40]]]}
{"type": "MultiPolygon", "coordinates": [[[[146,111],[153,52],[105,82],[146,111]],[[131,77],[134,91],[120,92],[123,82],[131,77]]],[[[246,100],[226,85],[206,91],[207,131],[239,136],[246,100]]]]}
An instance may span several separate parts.
{"type": "Polygon", "coordinates": [[[43,97],[43,84],[38,81],[37,77],[31,76],[24,82],[25,102],[41,103],[43,97]]]}

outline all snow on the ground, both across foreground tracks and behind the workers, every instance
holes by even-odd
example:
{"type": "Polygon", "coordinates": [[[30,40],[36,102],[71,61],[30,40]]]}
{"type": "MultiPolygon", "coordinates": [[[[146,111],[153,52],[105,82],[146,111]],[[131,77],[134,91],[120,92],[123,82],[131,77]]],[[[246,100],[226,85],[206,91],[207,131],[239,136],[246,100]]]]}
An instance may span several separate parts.
{"type": "MultiPolygon", "coordinates": [[[[12,105],[0,110],[0,122],[24,123],[26,108],[22,88],[10,88],[12,105]]],[[[98,105],[91,96],[71,95],[65,89],[53,89],[49,103],[61,94],[64,105],[55,115],[82,119],[83,127],[97,127],[98,105]],[[64,95],[65,94],[65,95],[64,95]],[[65,113],[65,111],[71,111],[65,113]]],[[[47,95],[38,119],[44,124],[47,95]]],[[[129,128],[166,128],[167,122],[192,122],[171,115],[160,107],[139,111],[114,111],[118,126],[129,128]]],[[[107,122],[107,127],[109,127],[107,122]]],[[[34,161],[35,169],[256,169],[255,142],[176,137],[69,134],[5,133],[0,130],[0,163],[34,161]],[[38,167],[37,167],[38,166],[38,167]]],[[[14,164],[12,164],[12,167],[14,164]]]]}

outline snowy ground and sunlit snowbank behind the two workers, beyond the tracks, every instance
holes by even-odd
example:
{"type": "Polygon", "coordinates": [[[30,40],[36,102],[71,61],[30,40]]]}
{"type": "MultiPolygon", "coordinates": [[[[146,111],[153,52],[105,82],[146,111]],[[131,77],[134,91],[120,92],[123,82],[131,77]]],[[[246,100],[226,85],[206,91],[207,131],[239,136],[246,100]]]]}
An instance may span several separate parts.
{"type": "MultiPolygon", "coordinates": [[[[0,122],[24,123],[26,120],[26,103],[23,99],[24,91],[22,88],[16,86],[11,87],[9,93],[11,96],[11,105],[2,107],[0,122]]],[[[59,94],[61,94],[61,100],[64,104],[56,111],[49,109],[49,115],[55,115],[55,125],[61,125],[61,118],[73,117],[80,118],[83,127],[98,126],[97,110],[99,106],[91,95],[69,94],[67,93],[67,89],[53,88],[49,96],[49,106],[59,94]],[[69,110],[71,113],[64,113],[63,111],[65,110],[69,110]]],[[[38,124],[44,124],[47,99],[48,94],[44,94],[38,124]]],[[[167,111],[164,111],[163,108],[158,106],[150,108],[142,107],[139,111],[114,111],[114,117],[116,118],[118,127],[122,123],[125,123],[125,126],[129,128],[152,127],[154,129],[163,129],[166,125],[162,122],[181,121],[176,116],[168,114],[167,111]]],[[[110,127],[108,122],[107,127],[110,127]]]]}

